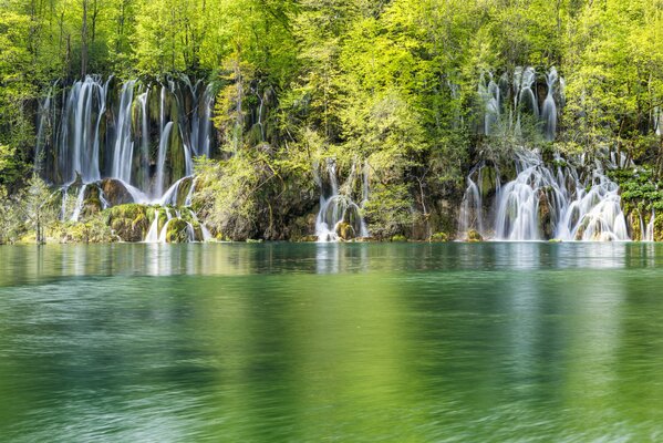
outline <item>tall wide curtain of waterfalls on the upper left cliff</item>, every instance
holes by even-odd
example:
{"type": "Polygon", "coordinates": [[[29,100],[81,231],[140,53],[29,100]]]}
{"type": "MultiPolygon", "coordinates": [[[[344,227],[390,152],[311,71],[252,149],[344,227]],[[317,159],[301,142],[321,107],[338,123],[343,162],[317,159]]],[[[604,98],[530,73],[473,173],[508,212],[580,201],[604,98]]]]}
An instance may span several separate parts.
{"type": "MultiPolygon", "coordinates": [[[[87,186],[95,184],[101,193],[108,179],[134,203],[177,200],[173,186],[193,175],[196,156],[211,153],[214,97],[211,84],[193,85],[187,78],[120,84],[89,75],[70,87],[55,82],[39,105],[34,168],[62,187],[61,218],[77,220],[87,186]],[[173,143],[182,154],[175,154],[173,143]],[[68,209],[72,185],[77,189],[73,214],[68,209]]],[[[191,193],[193,187],[186,206],[191,193]]]]}

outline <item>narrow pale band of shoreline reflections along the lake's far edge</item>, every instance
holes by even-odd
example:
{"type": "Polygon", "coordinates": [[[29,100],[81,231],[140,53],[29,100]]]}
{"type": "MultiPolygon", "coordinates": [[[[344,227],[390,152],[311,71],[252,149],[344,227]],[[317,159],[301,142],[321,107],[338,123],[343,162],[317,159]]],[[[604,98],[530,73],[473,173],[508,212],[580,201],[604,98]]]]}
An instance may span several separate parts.
{"type": "Polygon", "coordinates": [[[655,244],[111,245],[0,248],[0,285],[76,276],[655,268],[655,244]]]}

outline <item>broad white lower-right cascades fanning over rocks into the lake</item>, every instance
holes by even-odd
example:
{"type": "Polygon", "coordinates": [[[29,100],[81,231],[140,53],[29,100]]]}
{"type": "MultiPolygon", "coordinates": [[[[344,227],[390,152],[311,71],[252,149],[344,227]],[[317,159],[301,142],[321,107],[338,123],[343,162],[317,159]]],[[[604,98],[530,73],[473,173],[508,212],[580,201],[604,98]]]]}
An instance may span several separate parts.
{"type": "MultiPolygon", "coordinates": [[[[520,151],[515,163],[516,178],[497,189],[495,239],[629,240],[619,186],[603,174],[600,164],[583,178],[579,168],[559,156],[556,165],[549,166],[537,152],[520,151]]],[[[460,210],[460,233],[470,227],[485,233],[483,222],[474,226],[468,222],[468,214],[479,214],[480,219],[480,186],[481,181],[475,183],[470,174],[460,210]]]]}

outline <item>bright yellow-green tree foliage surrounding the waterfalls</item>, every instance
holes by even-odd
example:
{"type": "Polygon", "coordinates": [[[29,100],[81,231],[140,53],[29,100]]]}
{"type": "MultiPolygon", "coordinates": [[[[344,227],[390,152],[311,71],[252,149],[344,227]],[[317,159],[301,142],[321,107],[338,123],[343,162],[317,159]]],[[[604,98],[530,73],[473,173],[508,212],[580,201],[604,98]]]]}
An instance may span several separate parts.
{"type": "Polygon", "coordinates": [[[216,81],[226,159],[201,169],[203,210],[231,237],[279,238],[266,233],[287,215],[271,206],[297,194],[280,184],[309,192],[327,157],[344,176],[370,165],[376,235],[435,217],[444,226],[439,202],[457,196],[477,155],[514,143],[475,131],[480,74],[518,65],[555,65],[567,80],[555,148],[618,151],[663,169],[652,125],[663,107],[661,0],[2,0],[0,50],[10,192],[31,161],[35,99],[54,79],[216,81]],[[258,109],[260,125],[249,119],[258,109]]]}

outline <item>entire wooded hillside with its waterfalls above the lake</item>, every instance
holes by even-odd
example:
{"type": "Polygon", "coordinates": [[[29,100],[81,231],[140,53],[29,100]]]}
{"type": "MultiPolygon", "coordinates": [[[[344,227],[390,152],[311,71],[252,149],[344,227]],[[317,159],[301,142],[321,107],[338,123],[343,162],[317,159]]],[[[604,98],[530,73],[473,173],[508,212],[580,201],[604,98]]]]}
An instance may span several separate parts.
{"type": "Polygon", "coordinates": [[[0,0],[0,244],[661,240],[662,126],[663,0],[0,0]]]}

